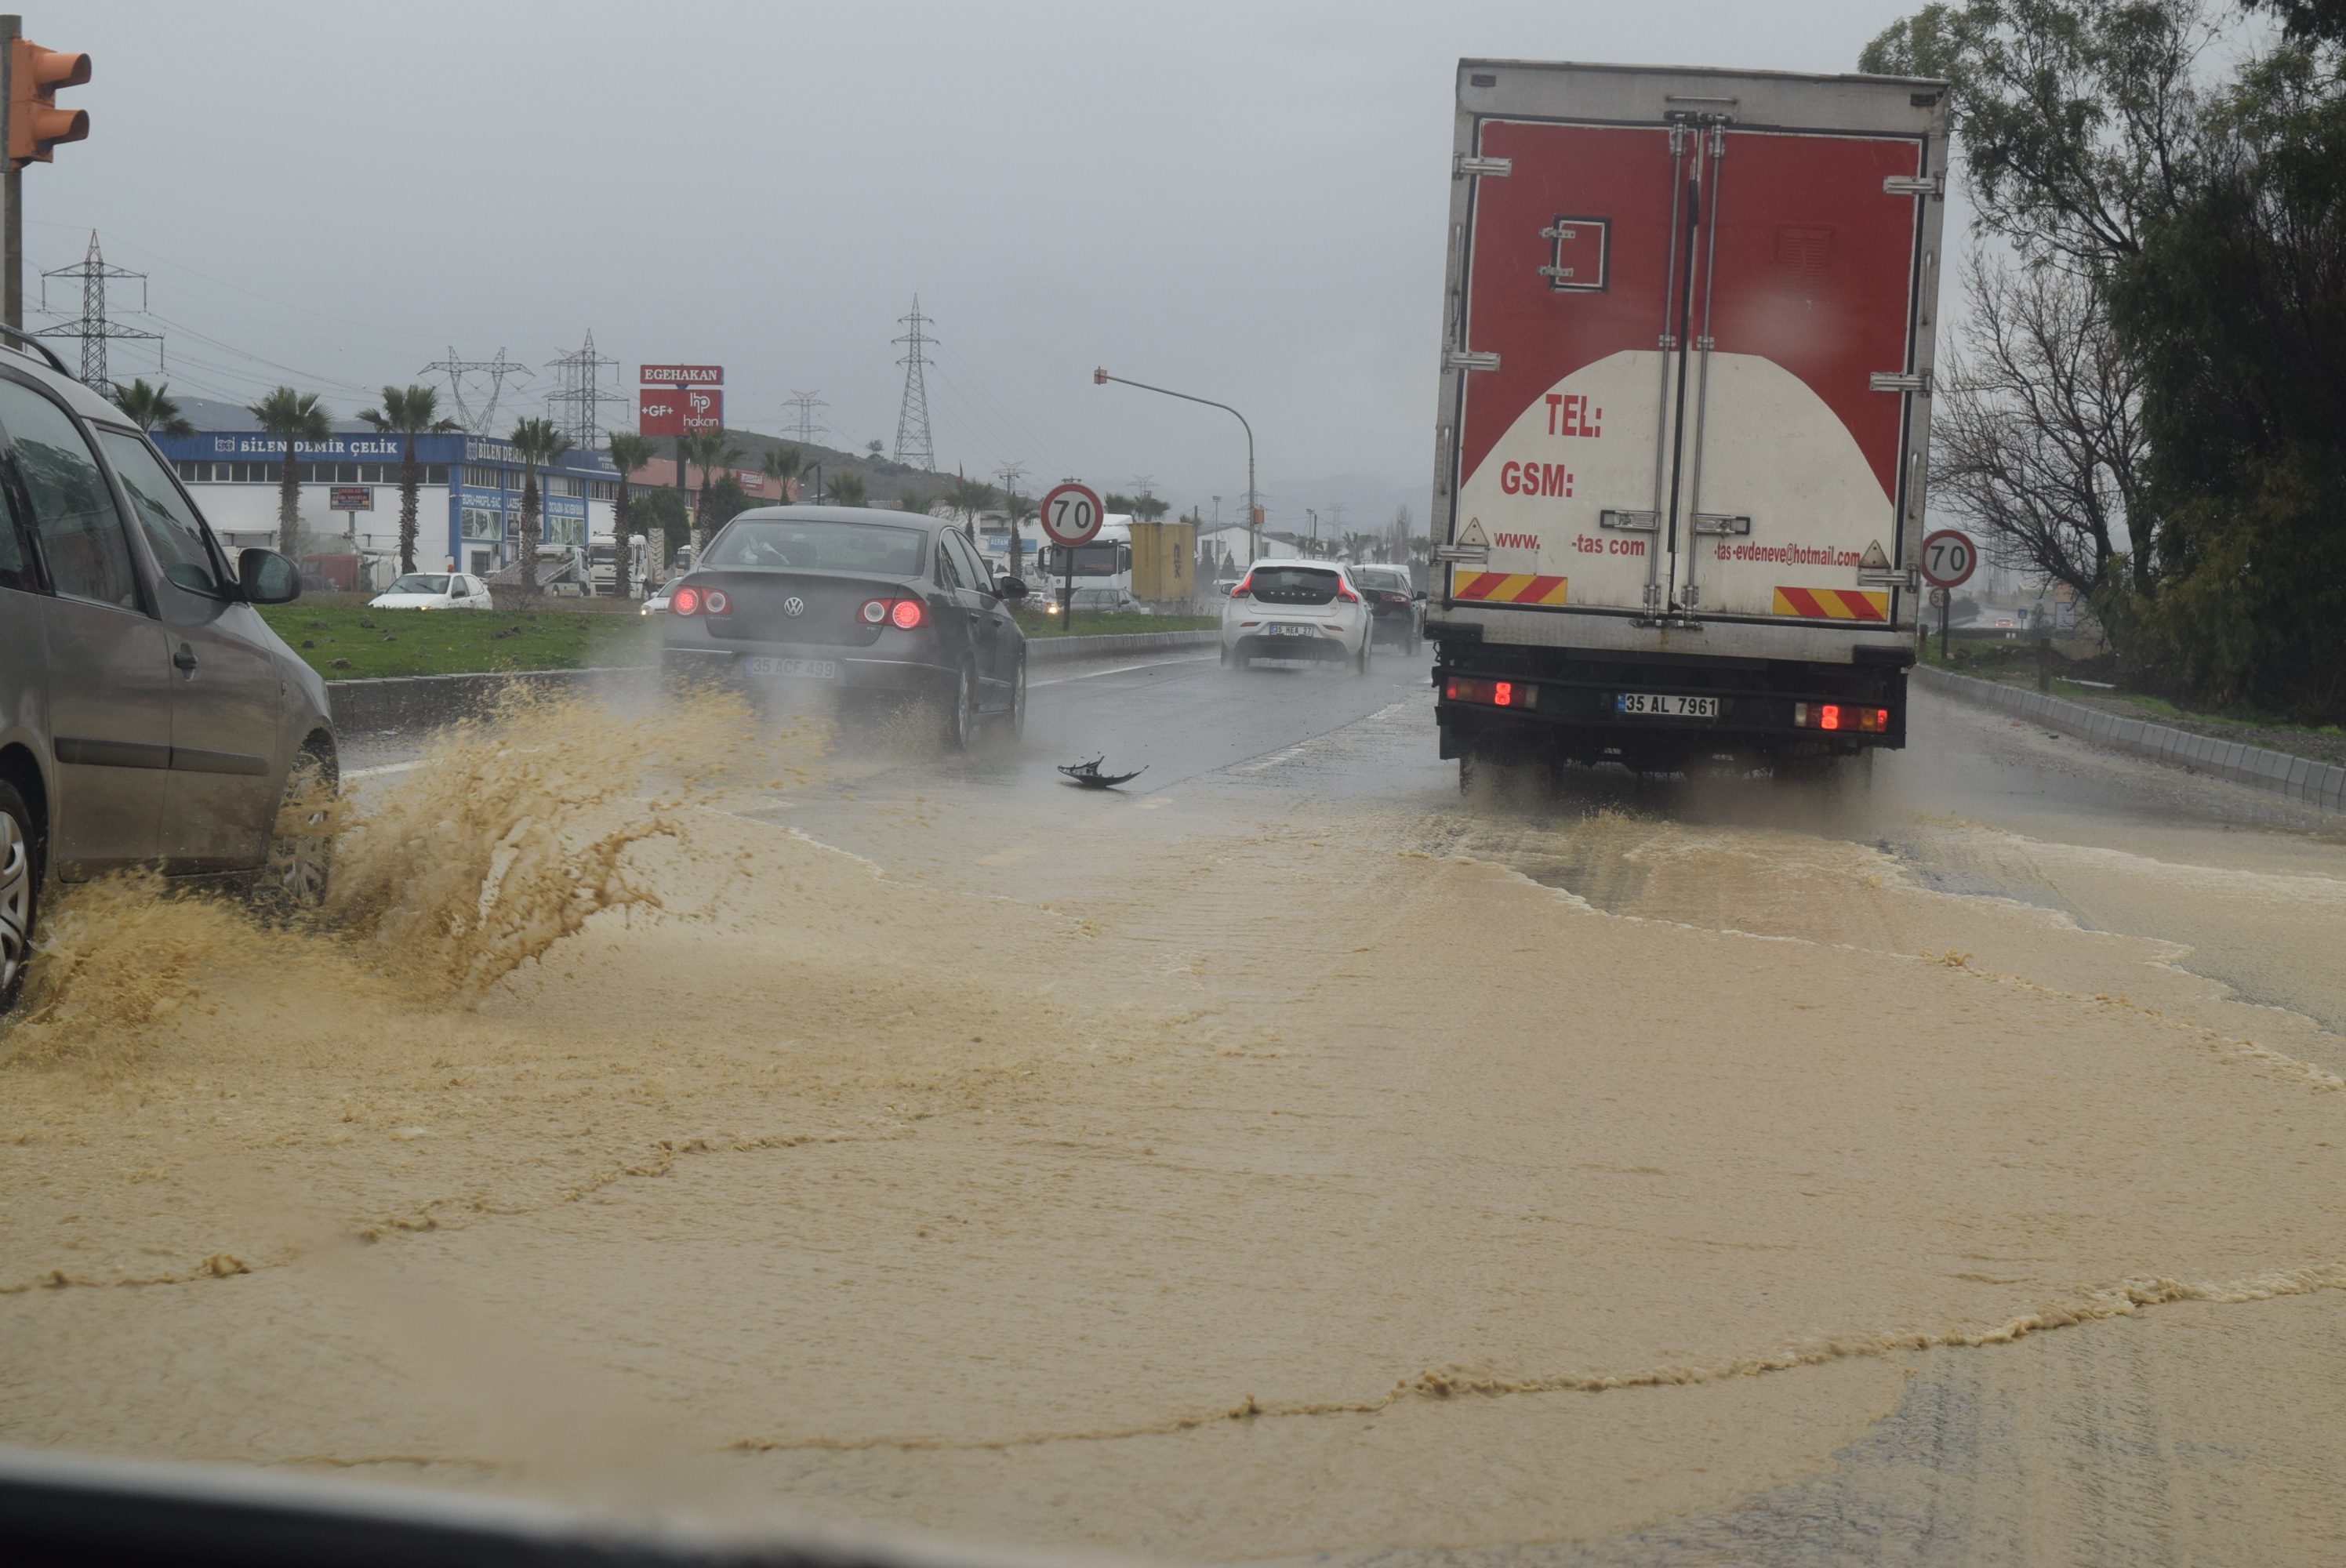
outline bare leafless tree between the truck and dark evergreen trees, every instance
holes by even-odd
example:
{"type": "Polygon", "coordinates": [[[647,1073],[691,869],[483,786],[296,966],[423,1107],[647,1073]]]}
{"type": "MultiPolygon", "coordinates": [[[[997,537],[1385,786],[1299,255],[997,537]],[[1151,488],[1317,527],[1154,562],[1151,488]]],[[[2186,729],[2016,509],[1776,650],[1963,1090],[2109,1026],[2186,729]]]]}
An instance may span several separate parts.
{"type": "Polygon", "coordinates": [[[2151,568],[2142,373],[2100,286],[1973,261],[1964,296],[1971,322],[1940,359],[1931,420],[1938,502],[1980,528],[1996,566],[2090,596],[2130,552],[2140,587],[2151,568]]]}

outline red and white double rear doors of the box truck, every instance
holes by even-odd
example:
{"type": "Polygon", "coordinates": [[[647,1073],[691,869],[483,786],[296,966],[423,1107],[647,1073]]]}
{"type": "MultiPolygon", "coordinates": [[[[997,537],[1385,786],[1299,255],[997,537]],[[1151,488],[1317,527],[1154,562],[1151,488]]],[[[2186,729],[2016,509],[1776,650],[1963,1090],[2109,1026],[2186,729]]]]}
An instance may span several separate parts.
{"type": "Polygon", "coordinates": [[[1469,117],[1452,606],[1910,620],[1928,131],[1626,73],[1591,73],[1581,120],[1572,70],[1544,82],[1560,115],[1469,117]]]}

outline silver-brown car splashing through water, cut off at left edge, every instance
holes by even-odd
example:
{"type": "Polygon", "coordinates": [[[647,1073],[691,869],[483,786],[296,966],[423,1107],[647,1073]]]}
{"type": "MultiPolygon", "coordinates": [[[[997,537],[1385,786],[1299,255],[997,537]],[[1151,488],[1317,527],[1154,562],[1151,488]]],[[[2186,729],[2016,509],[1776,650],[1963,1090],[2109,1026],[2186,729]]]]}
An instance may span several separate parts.
{"type": "Polygon", "coordinates": [[[230,561],[145,434],[33,347],[54,369],[0,352],[0,1007],[52,880],[319,904],[335,786],[326,683],[253,610],[300,573],[230,561]]]}

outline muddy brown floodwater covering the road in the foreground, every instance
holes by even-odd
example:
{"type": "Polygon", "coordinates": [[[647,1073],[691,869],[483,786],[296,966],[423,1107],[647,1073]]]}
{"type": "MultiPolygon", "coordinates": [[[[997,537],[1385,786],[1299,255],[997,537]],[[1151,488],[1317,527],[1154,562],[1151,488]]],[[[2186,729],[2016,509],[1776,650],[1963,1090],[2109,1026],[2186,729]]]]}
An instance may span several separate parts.
{"type": "Polygon", "coordinates": [[[1867,807],[2088,930],[1797,824],[1311,784],[1422,728],[1063,812],[533,709],[354,793],[321,927],[80,890],[0,1047],[0,1439],[1616,1561],[1959,1507],[1893,1451],[1961,1404],[2008,1523],[1931,1561],[2147,1561],[2062,1437],[2140,1364],[2165,1549],[2337,1559],[2346,850],[1867,807]]]}

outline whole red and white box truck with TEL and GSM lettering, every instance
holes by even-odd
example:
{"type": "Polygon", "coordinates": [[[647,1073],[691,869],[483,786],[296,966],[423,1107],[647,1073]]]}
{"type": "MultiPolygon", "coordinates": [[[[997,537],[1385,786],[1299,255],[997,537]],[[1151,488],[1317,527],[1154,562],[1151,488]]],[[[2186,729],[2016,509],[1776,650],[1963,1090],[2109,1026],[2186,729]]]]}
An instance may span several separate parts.
{"type": "Polygon", "coordinates": [[[1443,756],[1905,739],[1942,82],[1459,61],[1443,756]]]}

